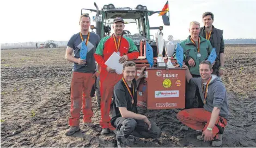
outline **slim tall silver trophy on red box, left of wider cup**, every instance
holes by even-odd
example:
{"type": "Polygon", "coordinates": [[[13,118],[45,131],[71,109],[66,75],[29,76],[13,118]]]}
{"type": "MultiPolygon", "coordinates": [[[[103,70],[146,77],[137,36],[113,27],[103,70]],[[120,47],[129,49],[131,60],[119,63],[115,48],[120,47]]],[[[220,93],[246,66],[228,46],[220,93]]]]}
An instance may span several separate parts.
{"type": "Polygon", "coordinates": [[[163,59],[163,46],[164,46],[164,39],[163,36],[160,34],[156,34],[156,47],[157,47],[157,67],[166,67],[166,63],[163,59]]]}

